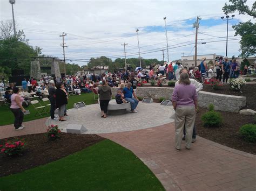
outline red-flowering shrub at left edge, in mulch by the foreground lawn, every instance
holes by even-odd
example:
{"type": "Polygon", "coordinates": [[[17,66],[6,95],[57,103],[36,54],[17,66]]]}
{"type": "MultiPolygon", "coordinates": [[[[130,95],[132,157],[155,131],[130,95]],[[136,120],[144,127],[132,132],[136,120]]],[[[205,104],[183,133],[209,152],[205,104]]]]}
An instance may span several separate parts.
{"type": "Polygon", "coordinates": [[[0,145],[1,153],[8,156],[19,155],[23,152],[25,147],[24,140],[15,140],[7,142],[4,145],[0,145]]]}

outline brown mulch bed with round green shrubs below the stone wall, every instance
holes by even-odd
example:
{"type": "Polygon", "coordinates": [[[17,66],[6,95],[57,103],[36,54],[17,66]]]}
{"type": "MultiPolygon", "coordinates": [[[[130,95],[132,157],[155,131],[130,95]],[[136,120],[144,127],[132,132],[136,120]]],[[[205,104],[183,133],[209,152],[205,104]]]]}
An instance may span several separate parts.
{"type": "Polygon", "coordinates": [[[242,125],[247,123],[255,124],[255,116],[244,116],[238,113],[219,111],[221,116],[223,116],[223,124],[216,128],[205,128],[201,121],[201,115],[207,111],[205,108],[199,108],[196,116],[197,135],[221,145],[256,154],[256,144],[246,142],[238,133],[242,125]]]}

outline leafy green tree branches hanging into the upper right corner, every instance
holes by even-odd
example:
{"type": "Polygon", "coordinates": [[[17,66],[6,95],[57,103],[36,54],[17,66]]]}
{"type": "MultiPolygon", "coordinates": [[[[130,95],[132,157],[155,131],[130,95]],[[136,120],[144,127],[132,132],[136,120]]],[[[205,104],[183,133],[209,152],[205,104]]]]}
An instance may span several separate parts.
{"type": "MultiPolygon", "coordinates": [[[[252,8],[250,9],[246,5],[247,0],[229,0],[230,5],[225,3],[223,11],[225,14],[233,13],[235,11],[239,12],[239,15],[249,15],[253,18],[256,17],[256,2],[253,3],[252,8]]],[[[240,22],[238,25],[232,26],[235,30],[235,36],[240,35],[240,51],[243,58],[248,56],[255,55],[256,53],[256,24],[252,23],[251,20],[248,20],[245,23],[240,22]]]]}

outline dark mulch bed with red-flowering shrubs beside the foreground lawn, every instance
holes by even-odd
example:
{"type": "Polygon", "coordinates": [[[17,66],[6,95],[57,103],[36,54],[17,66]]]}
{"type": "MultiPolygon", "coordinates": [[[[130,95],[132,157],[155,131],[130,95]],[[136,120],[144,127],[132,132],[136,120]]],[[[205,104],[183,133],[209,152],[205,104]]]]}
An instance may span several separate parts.
{"type": "MultiPolygon", "coordinates": [[[[18,138],[24,138],[26,143],[23,155],[5,157],[3,154],[0,154],[0,177],[48,164],[49,162],[83,150],[83,148],[96,144],[104,139],[97,135],[87,134],[61,133],[60,136],[61,138],[55,141],[48,140],[45,133],[19,136],[18,138]]],[[[16,140],[16,138],[9,138],[8,140],[16,140]]],[[[4,143],[5,141],[3,139],[0,140],[0,144],[4,143]]]]}

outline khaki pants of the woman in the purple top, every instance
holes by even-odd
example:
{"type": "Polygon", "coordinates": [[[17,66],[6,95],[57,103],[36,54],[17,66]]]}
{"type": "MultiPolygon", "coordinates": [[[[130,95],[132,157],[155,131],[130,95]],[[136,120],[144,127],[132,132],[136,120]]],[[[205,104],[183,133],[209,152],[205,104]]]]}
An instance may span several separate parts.
{"type": "Polygon", "coordinates": [[[183,128],[186,130],[186,147],[190,148],[192,143],[192,133],[194,121],[196,119],[196,109],[194,106],[183,106],[176,108],[175,111],[175,143],[176,148],[180,149],[183,128]]]}

